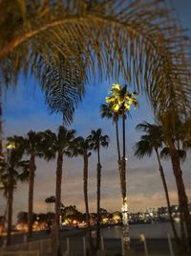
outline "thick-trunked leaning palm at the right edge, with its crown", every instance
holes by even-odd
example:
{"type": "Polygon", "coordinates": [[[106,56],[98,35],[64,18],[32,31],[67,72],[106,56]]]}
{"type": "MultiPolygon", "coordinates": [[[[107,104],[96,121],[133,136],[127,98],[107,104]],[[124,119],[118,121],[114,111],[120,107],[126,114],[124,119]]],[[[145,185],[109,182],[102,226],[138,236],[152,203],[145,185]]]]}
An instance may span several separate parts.
{"type": "Polygon", "coordinates": [[[191,248],[191,216],[180,166],[180,157],[182,157],[180,144],[183,144],[189,136],[187,137],[187,133],[183,129],[182,119],[180,119],[176,109],[177,106],[171,108],[168,112],[164,111],[163,114],[159,116],[159,121],[162,126],[164,143],[170,155],[177,184],[181,221],[185,221],[188,244],[191,248]],[[174,122],[171,123],[171,120],[174,120],[174,122]]]}

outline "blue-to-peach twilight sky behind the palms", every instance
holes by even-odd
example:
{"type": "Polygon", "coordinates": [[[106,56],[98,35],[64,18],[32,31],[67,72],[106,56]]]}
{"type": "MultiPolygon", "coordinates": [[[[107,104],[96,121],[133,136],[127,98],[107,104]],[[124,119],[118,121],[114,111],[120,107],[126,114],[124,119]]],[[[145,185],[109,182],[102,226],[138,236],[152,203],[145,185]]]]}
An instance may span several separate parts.
{"type": "MultiPolygon", "coordinates": [[[[191,1],[169,0],[178,12],[182,26],[191,35],[191,1]]],[[[92,129],[102,128],[104,134],[110,136],[110,145],[107,150],[101,150],[101,207],[109,211],[120,210],[121,198],[119,178],[117,174],[117,148],[115,128],[109,120],[100,118],[99,106],[104,103],[110,86],[116,81],[96,81],[95,85],[87,86],[85,98],[74,114],[74,123],[70,128],[77,131],[77,135],[87,136],[92,129]]],[[[125,81],[119,81],[123,84],[125,81]]],[[[138,96],[138,109],[132,109],[132,118],[127,120],[127,170],[128,196],[130,211],[143,210],[149,207],[165,205],[162,183],[159,176],[158,164],[155,155],[143,160],[134,157],[132,147],[138,142],[141,132],[135,130],[142,121],[153,122],[152,111],[144,96],[138,96]]],[[[44,104],[44,97],[38,84],[30,78],[19,80],[17,88],[10,89],[4,98],[4,137],[13,134],[25,135],[29,130],[45,130],[51,128],[56,131],[61,125],[60,115],[50,115],[44,104]]],[[[190,152],[188,152],[189,154],[190,152]]],[[[182,165],[183,178],[189,201],[191,201],[191,160],[182,165]]],[[[53,196],[55,190],[55,161],[46,162],[36,160],[36,175],[34,181],[34,212],[46,212],[45,198],[53,196]]],[[[169,194],[172,204],[178,202],[175,178],[171,165],[163,162],[169,194]]],[[[62,202],[65,205],[75,204],[84,211],[82,157],[73,159],[64,158],[62,179],[62,202]]],[[[90,158],[89,164],[89,200],[91,211],[96,211],[96,153],[90,158]]],[[[28,184],[18,184],[14,193],[13,221],[18,211],[27,211],[28,184]]],[[[0,215],[4,213],[6,200],[0,192],[0,215]]]]}

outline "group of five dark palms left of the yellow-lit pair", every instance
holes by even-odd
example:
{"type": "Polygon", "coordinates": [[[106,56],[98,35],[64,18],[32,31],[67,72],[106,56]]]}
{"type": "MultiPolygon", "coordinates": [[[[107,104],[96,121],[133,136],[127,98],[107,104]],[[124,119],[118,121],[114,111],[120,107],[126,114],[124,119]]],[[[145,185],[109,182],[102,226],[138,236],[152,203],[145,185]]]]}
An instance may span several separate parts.
{"type": "MultiPolygon", "coordinates": [[[[33,212],[33,185],[35,176],[35,158],[43,157],[50,161],[56,158],[56,186],[55,186],[55,221],[59,226],[60,223],[60,207],[61,207],[61,182],[62,182],[62,168],[63,157],[67,155],[69,157],[82,155],[84,160],[83,180],[84,180],[84,200],[86,209],[86,221],[89,227],[89,237],[91,242],[91,229],[90,229],[90,216],[88,205],[88,158],[91,155],[91,151],[97,152],[97,246],[99,246],[99,212],[100,212],[100,180],[101,180],[101,164],[100,164],[100,148],[108,147],[109,137],[103,135],[102,130],[92,130],[92,133],[86,137],[75,137],[75,130],[68,130],[64,127],[59,127],[58,132],[45,130],[44,132],[30,131],[26,137],[13,136],[8,138],[8,148],[11,151],[8,153],[8,158],[4,159],[2,163],[2,181],[4,184],[4,191],[8,193],[8,239],[7,244],[11,244],[11,215],[12,215],[12,200],[13,189],[16,186],[18,177],[22,175],[23,180],[29,181],[29,201],[28,201],[28,240],[32,237],[32,212],[33,212]],[[30,156],[30,160],[23,161],[23,157],[30,156]],[[22,161],[21,161],[22,160],[22,161]],[[18,169],[21,165],[23,172],[18,175],[18,169]],[[14,175],[16,172],[17,175],[14,175]],[[6,178],[10,176],[14,177],[14,182],[11,179],[6,178]]],[[[7,196],[7,194],[5,195],[7,196]]]]}

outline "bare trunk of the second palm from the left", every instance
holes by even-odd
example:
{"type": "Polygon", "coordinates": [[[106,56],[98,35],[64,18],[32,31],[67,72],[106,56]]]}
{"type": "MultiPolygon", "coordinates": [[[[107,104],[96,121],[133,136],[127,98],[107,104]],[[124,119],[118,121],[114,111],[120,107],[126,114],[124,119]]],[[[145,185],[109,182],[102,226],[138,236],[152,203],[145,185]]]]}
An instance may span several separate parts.
{"type": "Polygon", "coordinates": [[[28,241],[32,238],[32,216],[33,216],[33,181],[35,172],[35,155],[31,154],[30,159],[30,176],[29,176],[29,210],[28,210],[28,241]]]}

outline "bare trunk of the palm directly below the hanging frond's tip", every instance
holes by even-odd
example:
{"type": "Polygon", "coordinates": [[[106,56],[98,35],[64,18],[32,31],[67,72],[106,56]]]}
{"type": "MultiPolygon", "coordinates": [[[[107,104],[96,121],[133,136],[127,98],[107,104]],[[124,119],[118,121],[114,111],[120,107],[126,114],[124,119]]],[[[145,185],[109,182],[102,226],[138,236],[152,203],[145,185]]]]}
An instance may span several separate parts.
{"type": "Polygon", "coordinates": [[[55,184],[55,221],[60,226],[60,201],[61,201],[61,183],[62,183],[62,163],[63,156],[58,152],[57,169],[56,169],[56,184],[55,184]]]}

